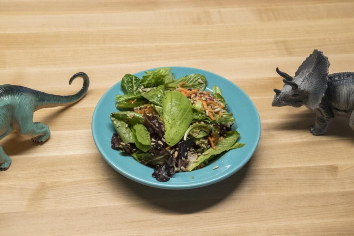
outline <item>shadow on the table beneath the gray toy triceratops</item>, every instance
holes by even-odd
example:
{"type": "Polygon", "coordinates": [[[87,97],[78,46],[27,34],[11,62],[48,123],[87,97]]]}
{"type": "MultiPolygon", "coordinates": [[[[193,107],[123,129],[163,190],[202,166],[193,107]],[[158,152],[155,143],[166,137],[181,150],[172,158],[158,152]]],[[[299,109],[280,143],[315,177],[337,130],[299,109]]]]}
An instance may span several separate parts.
{"type": "MultiPolygon", "coordinates": [[[[303,130],[309,133],[310,125],[315,123],[316,115],[313,111],[301,111],[286,115],[289,118],[284,122],[277,122],[272,126],[275,130],[303,130]]],[[[329,125],[327,133],[324,136],[337,136],[354,140],[354,131],[349,127],[349,119],[345,117],[335,117],[329,125]]]]}

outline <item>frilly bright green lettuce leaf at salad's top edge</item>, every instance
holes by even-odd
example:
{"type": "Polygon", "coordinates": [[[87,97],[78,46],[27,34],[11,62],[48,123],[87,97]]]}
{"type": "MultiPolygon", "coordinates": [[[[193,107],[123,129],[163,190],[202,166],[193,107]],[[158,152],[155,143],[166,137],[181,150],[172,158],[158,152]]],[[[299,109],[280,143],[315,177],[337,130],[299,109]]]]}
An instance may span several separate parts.
{"type": "Polygon", "coordinates": [[[145,87],[154,87],[155,85],[168,84],[173,82],[171,68],[159,68],[155,71],[145,71],[141,83],[145,87]]]}

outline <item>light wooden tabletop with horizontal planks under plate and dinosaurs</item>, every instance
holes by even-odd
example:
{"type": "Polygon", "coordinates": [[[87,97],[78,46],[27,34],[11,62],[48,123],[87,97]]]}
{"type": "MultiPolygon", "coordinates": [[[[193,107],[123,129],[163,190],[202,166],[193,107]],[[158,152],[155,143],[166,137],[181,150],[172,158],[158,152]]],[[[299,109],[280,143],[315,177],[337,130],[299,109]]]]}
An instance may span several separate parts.
{"type": "MultiPolygon", "coordinates": [[[[330,72],[354,70],[351,0],[0,1],[0,84],[69,95],[84,71],[90,89],[70,107],[39,110],[51,137],[0,142],[0,234],[354,235],[354,132],[337,119],[324,136],[306,108],[271,106],[313,49],[330,72]],[[166,191],[115,172],[98,153],[91,117],[126,73],[160,66],[206,69],[255,103],[262,136],[238,173],[201,189],[166,191]]],[[[236,115],[237,116],[237,115],[236,115]]]]}

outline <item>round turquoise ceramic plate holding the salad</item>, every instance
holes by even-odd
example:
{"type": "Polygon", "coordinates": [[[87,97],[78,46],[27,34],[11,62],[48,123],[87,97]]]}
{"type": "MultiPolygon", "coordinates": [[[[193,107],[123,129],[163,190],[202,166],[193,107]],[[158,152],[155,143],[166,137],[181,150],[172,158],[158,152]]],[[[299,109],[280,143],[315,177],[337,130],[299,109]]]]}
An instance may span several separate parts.
{"type": "MultiPolygon", "coordinates": [[[[133,157],[125,156],[111,148],[110,141],[115,130],[110,122],[109,114],[117,111],[115,95],[124,94],[120,87],[120,81],[113,85],[97,103],[92,116],[93,140],[98,151],[113,169],[141,184],[161,189],[193,189],[214,184],[241,169],[255,152],[261,135],[261,122],[257,109],[244,91],[220,75],[189,67],[172,67],[172,73],[176,78],[187,74],[202,74],[207,79],[207,90],[210,91],[213,85],[219,86],[227,102],[227,110],[233,113],[236,119],[232,129],[239,131],[241,137],[238,141],[246,145],[219,155],[216,161],[204,168],[192,172],[177,173],[167,182],[156,181],[151,176],[152,168],[138,163],[133,157]],[[213,170],[216,165],[219,168],[213,170]],[[194,178],[192,179],[190,176],[194,176],[194,178]]],[[[141,78],[144,71],[135,75],[141,78]]]]}

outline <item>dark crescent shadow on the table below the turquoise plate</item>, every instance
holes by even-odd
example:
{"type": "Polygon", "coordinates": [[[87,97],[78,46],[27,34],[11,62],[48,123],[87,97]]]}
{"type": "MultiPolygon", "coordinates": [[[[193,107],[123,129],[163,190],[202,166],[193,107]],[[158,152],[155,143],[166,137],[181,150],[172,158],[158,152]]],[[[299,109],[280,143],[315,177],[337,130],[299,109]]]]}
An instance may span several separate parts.
{"type": "Polygon", "coordinates": [[[118,186],[124,186],[124,189],[129,191],[132,197],[136,197],[138,202],[143,202],[141,203],[142,207],[148,209],[157,208],[164,212],[189,214],[206,210],[225,200],[242,183],[251,165],[252,158],[229,178],[197,189],[157,189],[127,179],[119,173],[117,173],[118,176],[115,183],[118,186]]]}

